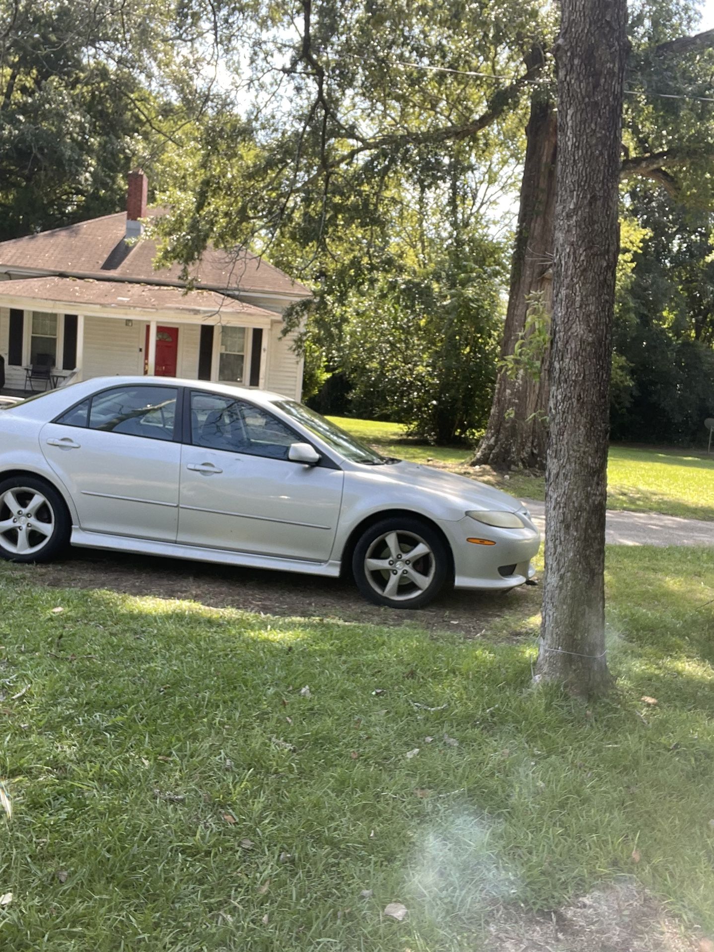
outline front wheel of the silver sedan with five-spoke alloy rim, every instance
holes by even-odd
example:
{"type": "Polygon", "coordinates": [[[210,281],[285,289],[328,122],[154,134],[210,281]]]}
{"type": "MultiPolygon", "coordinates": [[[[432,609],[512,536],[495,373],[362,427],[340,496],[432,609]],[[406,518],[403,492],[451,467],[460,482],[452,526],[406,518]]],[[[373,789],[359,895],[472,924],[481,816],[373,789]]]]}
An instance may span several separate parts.
{"type": "Polygon", "coordinates": [[[357,587],[375,605],[421,608],[446,583],[448,550],[421,519],[394,516],[369,526],[352,556],[357,587]]]}

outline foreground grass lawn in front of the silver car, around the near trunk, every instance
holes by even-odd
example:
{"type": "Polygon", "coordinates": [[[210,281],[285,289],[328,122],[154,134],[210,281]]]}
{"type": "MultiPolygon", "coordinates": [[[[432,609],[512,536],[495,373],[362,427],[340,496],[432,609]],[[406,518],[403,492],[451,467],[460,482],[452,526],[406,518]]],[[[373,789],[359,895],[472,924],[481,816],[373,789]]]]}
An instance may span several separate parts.
{"type": "Polygon", "coordinates": [[[465,641],[33,572],[0,565],[0,947],[470,952],[487,905],[622,874],[714,930],[714,549],[609,551],[587,707],[529,686],[537,589],[465,641]]]}

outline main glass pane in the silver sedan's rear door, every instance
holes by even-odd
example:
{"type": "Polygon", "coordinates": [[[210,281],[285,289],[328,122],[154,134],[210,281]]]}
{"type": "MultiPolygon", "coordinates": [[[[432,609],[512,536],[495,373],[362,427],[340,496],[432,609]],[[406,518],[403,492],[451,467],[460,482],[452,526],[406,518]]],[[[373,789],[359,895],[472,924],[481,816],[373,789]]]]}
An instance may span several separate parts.
{"type": "Polygon", "coordinates": [[[92,397],[89,428],[152,440],[173,439],[174,387],[115,387],[92,397]]]}

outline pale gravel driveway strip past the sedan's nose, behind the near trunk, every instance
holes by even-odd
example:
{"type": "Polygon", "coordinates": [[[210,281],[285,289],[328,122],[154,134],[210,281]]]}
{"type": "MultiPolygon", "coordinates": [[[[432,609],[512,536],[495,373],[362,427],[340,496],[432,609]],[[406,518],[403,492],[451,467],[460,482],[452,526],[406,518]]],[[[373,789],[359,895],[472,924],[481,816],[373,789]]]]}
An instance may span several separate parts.
{"type": "MultiPolygon", "coordinates": [[[[530,499],[524,502],[543,532],[545,503],[530,499]]],[[[656,512],[608,509],[605,541],[609,545],[714,545],[714,523],[656,512]]]]}

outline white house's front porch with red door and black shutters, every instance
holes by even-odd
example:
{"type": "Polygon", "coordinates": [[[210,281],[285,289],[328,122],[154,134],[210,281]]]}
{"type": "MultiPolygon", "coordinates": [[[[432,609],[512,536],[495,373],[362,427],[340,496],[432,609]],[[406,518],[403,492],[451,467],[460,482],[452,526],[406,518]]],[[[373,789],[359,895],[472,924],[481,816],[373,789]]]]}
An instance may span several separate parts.
{"type": "Polygon", "coordinates": [[[3,392],[155,374],[299,399],[300,362],[282,326],[279,312],[208,290],[59,277],[3,282],[3,392]]]}

